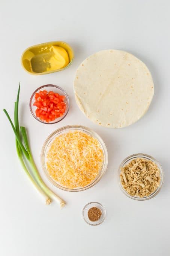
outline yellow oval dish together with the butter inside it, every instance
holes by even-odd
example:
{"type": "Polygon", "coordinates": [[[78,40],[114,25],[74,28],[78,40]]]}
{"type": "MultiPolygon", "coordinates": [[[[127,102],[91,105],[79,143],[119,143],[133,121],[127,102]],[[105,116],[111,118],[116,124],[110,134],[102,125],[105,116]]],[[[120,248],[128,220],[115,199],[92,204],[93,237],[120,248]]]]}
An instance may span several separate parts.
{"type": "Polygon", "coordinates": [[[32,75],[44,75],[66,69],[73,58],[69,44],[54,41],[27,48],[21,56],[21,64],[32,75]]]}

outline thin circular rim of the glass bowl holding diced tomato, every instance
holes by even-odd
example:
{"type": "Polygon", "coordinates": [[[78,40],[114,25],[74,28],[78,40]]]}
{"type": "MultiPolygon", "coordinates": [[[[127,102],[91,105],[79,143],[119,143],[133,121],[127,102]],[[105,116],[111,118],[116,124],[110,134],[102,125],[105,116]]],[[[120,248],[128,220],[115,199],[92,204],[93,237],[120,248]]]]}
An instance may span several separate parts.
{"type": "Polygon", "coordinates": [[[61,88],[60,86],[55,85],[55,84],[45,84],[45,85],[42,85],[42,86],[38,87],[35,91],[33,91],[32,95],[31,95],[31,97],[30,97],[29,107],[30,107],[30,111],[31,111],[33,117],[34,117],[36,120],[38,120],[38,121],[41,122],[41,123],[45,123],[45,124],[47,124],[47,125],[53,125],[54,123],[58,123],[58,122],[60,122],[61,120],[63,120],[63,118],[66,117],[66,115],[68,114],[69,108],[70,108],[70,104],[69,104],[68,94],[66,93],[66,91],[65,91],[63,88],[61,88]],[[45,87],[55,87],[55,88],[61,90],[62,93],[65,94],[65,96],[66,96],[66,101],[67,101],[68,107],[67,107],[65,113],[63,114],[62,118],[61,118],[60,120],[58,120],[58,121],[57,121],[57,119],[56,119],[56,122],[53,122],[53,123],[43,122],[42,120],[40,120],[39,118],[37,118],[37,117],[35,116],[35,114],[33,113],[33,110],[32,110],[32,101],[33,101],[33,98],[34,98],[35,93],[36,93],[37,91],[41,90],[42,88],[45,88],[45,87]]]}

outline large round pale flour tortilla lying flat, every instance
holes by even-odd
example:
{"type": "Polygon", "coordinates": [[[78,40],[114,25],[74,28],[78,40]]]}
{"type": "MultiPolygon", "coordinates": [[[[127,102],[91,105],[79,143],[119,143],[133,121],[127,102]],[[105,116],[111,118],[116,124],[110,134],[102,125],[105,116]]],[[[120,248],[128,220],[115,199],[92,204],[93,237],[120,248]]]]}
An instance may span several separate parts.
{"type": "Polygon", "coordinates": [[[146,65],[134,55],[103,50],[80,64],[74,92],[78,107],[90,120],[122,128],[146,113],[154,85],[146,65]]]}

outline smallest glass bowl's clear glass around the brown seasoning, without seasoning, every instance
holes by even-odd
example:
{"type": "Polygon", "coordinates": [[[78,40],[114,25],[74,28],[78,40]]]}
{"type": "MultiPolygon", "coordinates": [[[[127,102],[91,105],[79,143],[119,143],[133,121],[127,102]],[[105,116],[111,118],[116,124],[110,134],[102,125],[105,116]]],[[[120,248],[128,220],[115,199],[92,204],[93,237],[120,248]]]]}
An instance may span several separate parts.
{"type": "Polygon", "coordinates": [[[89,224],[91,226],[97,226],[105,220],[106,210],[105,210],[104,206],[102,206],[102,204],[100,204],[98,202],[91,202],[84,206],[82,215],[83,215],[84,221],[86,221],[87,224],[89,224]],[[102,212],[101,217],[97,221],[90,221],[90,219],[88,217],[88,211],[92,207],[96,207],[96,208],[100,209],[102,212]]]}

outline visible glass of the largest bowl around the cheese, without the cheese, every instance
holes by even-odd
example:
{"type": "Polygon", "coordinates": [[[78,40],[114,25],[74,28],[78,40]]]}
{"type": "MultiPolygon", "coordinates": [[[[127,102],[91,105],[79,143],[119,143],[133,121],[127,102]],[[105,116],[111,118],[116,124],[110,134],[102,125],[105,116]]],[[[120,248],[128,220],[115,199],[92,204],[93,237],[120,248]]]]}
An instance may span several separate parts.
{"type": "Polygon", "coordinates": [[[107,163],[108,163],[108,154],[107,154],[107,148],[103,142],[103,140],[101,139],[101,137],[95,133],[94,131],[92,131],[91,129],[81,126],[81,125],[68,125],[68,126],[64,126],[62,128],[57,129],[56,131],[54,131],[52,134],[50,134],[50,136],[45,140],[44,145],[42,147],[42,151],[41,151],[41,166],[42,169],[44,170],[45,174],[47,175],[48,180],[56,187],[66,190],[66,191],[82,191],[85,189],[88,189],[89,187],[94,186],[100,179],[101,177],[104,175],[106,169],[107,169],[107,163]],[[103,166],[102,166],[102,170],[100,171],[99,175],[87,186],[84,187],[77,187],[75,189],[70,189],[68,187],[64,187],[61,184],[57,183],[55,180],[53,180],[50,175],[48,174],[45,162],[46,162],[46,153],[48,151],[48,147],[50,146],[51,142],[53,141],[54,138],[56,138],[56,136],[59,136],[60,134],[64,134],[67,133],[69,131],[82,131],[90,136],[95,137],[98,142],[101,145],[102,151],[103,151],[103,155],[104,155],[104,161],[103,161],[103,166]]]}

